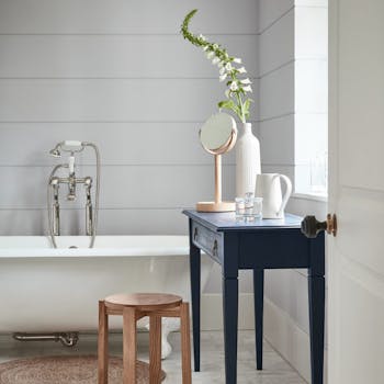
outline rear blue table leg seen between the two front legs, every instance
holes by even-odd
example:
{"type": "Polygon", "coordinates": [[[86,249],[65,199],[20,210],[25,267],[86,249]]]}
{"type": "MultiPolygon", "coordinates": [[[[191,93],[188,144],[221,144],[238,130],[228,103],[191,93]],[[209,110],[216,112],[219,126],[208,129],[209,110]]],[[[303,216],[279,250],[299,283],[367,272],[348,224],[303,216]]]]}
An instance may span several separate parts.
{"type": "Polygon", "coordinates": [[[256,366],[262,370],[262,320],[264,307],[264,270],[253,270],[256,366]]]}

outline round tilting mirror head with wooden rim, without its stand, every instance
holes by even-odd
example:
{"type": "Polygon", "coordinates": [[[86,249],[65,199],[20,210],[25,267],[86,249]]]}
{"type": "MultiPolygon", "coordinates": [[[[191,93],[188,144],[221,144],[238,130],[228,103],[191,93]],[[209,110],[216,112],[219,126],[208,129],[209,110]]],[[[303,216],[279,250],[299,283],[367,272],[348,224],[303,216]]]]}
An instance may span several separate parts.
{"type": "Polygon", "coordinates": [[[211,116],[200,129],[203,148],[213,155],[230,150],[236,143],[237,129],[235,118],[227,113],[211,116]]]}

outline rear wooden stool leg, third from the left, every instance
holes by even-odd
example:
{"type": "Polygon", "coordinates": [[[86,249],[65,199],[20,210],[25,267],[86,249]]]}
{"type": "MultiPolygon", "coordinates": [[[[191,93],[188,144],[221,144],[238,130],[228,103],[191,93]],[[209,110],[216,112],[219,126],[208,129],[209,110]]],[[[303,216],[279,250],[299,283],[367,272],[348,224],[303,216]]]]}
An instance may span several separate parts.
{"type": "Polygon", "coordinates": [[[161,317],[149,316],[149,384],[160,384],[161,317]]]}

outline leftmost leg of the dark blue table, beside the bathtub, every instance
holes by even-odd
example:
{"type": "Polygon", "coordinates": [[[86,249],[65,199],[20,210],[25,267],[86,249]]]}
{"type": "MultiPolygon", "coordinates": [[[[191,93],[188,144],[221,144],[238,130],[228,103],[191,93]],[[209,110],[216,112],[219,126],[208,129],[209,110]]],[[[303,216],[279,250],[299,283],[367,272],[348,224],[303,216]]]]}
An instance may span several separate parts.
{"type": "Polygon", "coordinates": [[[200,372],[201,252],[192,242],[190,245],[190,270],[194,370],[195,372],[200,372]]]}

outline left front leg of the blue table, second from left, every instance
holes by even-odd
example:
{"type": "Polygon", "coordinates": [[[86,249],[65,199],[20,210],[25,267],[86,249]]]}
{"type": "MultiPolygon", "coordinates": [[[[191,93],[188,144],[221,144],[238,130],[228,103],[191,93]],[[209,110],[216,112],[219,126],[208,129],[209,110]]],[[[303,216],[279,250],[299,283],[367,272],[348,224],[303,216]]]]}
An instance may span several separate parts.
{"type": "Polygon", "coordinates": [[[238,279],[223,278],[225,383],[237,381],[238,279]]]}

